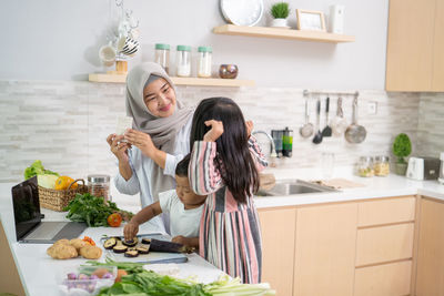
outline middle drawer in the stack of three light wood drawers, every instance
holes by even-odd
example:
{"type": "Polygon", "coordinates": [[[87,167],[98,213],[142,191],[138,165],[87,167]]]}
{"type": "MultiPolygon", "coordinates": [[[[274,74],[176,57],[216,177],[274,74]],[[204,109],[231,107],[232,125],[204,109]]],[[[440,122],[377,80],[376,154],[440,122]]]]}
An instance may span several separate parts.
{"type": "Polygon", "coordinates": [[[356,266],[411,258],[413,236],[413,223],[359,229],[356,266]]]}

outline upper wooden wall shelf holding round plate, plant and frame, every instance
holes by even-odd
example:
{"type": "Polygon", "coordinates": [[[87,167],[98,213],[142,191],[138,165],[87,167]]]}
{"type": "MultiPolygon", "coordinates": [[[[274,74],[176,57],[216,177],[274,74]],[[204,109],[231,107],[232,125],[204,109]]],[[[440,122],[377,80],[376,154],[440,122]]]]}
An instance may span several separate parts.
{"type": "Polygon", "coordinates": [[[292,39],[315,42],[354,42],[354,35],[333,34],[320,31],[301,31],[294,29],[278,29],[268,27],[244,27],[223,24],[213,28],[213,33],[228,35],[264,37],[276,39],[292,39]]]}

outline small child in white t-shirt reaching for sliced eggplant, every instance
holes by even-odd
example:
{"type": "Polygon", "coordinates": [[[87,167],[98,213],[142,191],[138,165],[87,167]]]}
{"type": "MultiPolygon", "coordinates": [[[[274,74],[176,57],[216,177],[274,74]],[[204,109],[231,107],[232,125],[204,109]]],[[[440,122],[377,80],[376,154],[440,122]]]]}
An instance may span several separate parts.
{"type": "Polygon", "coordinates": [[[159,194],[159,202],[142,208],[124,226],[125,239],[132,239],[139,232],[139,225],[161,213],[170,214],[172,242],[199,248],[199,221],[206,195],[195,194],[188,178],[190,154],[175,167],[175,190],[159,194]]]}

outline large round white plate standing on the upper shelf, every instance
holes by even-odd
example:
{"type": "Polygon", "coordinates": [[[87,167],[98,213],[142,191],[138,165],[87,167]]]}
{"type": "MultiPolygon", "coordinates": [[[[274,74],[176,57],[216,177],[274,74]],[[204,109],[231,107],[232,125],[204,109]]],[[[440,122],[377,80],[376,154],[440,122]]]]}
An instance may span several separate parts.
{"type": "Polygon", "coordinates": [[[226,22],[254,25],[263,14],[263,0],[221,0],[220,9],[226,22]]]}

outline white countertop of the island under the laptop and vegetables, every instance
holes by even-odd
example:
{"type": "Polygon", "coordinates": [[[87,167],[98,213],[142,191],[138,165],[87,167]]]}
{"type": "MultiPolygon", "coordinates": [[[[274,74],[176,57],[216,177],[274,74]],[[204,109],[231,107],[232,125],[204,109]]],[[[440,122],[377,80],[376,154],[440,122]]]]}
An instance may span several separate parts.
{"type": "MultiPolygon", "coordinates": [[[[60,295],[57,287],[58,276],[65,271],[65,268],[75,268],[87,259],[78,257],[67,261],[52,259],[47,255],[49,244],[19,244],[16,242],[16,232],[13,225],[13,212],[11,201],[11,186],[14,184],[1,183],[0,184],[0,218],[6,229],[8,241],[12,249],[12,254],[18,266],[18,272],[24,282],[28,295],[60,295]]],[[[65,213],[42,210],[46,214],[44,221],[64,221],[65,213]]],[[[164,233],[155,221],[150,221],[140,227],[140,234],[148,233],[164,233]]],[[[95,243],[100,242],[103,234],[107,235],[122,235],[123,227],[90,227],[87,228],[81,237],[84,235],[90,236],[95,243]]],[[[100,246],[100,244],[98,244],[100,246]]],[[[222,274],[222,272],[209,264],[198,254],[186,255],[189,261],[183,264],[176,264],[180,268],[179,277],[198,276],[198,280],[202,283],[210,283],[222,274]]],[[[104,253],[100,262],[104,262],[104,253]]],[[[6,267],[6,266],[2,266],[6,267]]]]}

